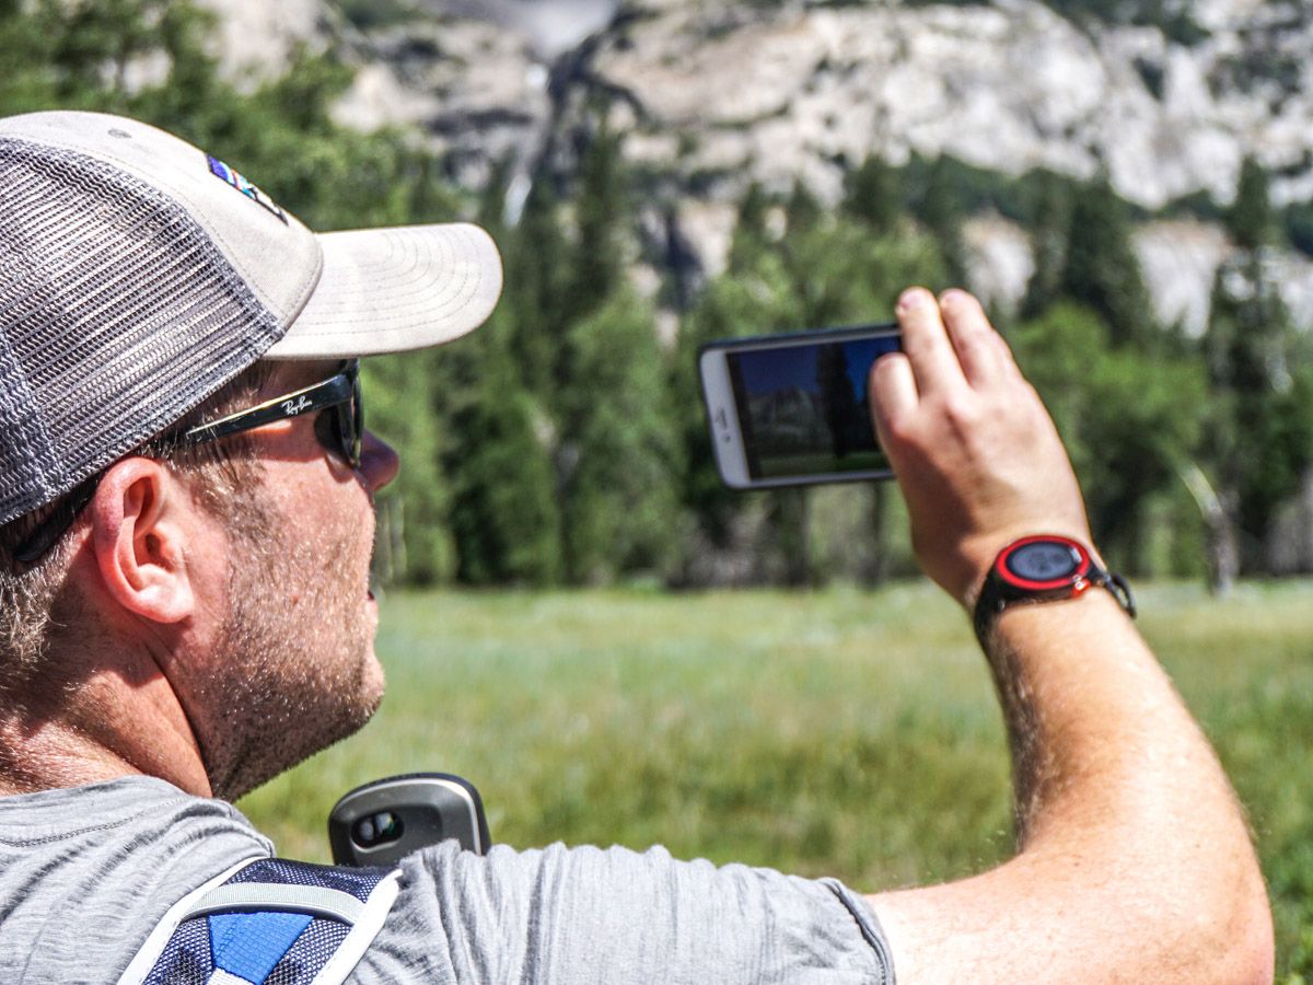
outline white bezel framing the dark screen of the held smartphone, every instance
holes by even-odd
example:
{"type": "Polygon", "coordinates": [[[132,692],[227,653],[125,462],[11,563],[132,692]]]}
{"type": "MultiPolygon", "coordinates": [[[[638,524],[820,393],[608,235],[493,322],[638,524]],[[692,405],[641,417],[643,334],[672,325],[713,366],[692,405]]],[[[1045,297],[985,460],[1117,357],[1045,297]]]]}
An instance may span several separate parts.
{"type": "Polygon", "coordinates": [[[754,479],[747,466],[747,448],[743,443],[738,402],[734,398],[734,383],[730,380],[729,361],[726,360],[730,352],[783,349],[842,339],[882,338],[890,335],[898,335],[897,326],[880,324],[822,332],[794,332],[775,338],[765,336],[713,343],[704,348],[699,355],[699,376],[702,381],[702,398],[706,402],[706,415],[712,428],[712,448],[716,454],[716,466],[720,469],[725,485],[730,489],[752,490],[892,478],[893,470],[890,469],[869,469],[864,471],[813,473],[809,475],[754,479]],[[822,334],[831,335],[831,338],[817,338],[822,334]]]}

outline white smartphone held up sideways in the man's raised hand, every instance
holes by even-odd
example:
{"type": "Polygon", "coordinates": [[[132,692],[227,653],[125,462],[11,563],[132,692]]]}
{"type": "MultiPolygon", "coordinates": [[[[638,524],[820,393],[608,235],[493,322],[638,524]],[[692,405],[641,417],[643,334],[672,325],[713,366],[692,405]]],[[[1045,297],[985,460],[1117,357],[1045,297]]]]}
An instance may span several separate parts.
{"type": "Polygon", "coordinates": [[[894,323],[726,339],[697,368],[721,479],[733,489],[893,475],[871,423],[871,365],[901,347],[894,323]]]}

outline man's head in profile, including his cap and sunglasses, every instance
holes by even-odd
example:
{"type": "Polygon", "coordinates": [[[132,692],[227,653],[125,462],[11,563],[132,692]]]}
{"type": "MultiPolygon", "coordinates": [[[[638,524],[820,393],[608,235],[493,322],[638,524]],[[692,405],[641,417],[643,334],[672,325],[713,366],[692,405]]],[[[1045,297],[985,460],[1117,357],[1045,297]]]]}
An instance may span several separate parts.
{"type": "MultiPolygon", "coordinates": [[[[0,691],[110,745],[116,703],[176,705],[235,796],[381,697],[372,500],[397,458],[349,447],[343,370],[478,326],[496,250],[463,225],[316,236],[88,113],[0,121],[0,691]]],[[[168,755],[151,728],[123,756],[144,771],[168,755]]]]}

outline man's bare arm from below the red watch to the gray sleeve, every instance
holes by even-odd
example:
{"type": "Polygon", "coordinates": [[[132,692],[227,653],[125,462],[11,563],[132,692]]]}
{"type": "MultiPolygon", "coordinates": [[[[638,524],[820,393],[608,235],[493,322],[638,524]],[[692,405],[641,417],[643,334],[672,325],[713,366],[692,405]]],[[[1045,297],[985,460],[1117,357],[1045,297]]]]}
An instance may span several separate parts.
{"type": "Polygon", "coordinates": [[[899,980],[1270,980],[1266,894],[1230,785],[1113,598],[1012,607],[990,644],[1020,854],[876,897],[899,980]]]}

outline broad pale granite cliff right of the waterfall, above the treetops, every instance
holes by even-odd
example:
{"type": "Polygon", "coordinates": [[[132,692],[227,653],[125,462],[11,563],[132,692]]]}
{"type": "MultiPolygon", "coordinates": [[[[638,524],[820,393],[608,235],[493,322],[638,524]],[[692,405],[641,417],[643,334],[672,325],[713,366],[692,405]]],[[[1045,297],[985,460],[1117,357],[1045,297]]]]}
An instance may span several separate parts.
{"type": "Polygon", "coordinates": [[[878,150],[995,171],[1106,167],[1148,208],[1225,201],[1246,152],[1313,193],[1313,11],[1203,5],[1192,46],[1157,28],[1078,25],[1035,0],[794,7],[647,0],[601,39],[593,72],[645,131],[696,137],[687,167],[805,175],[838,193],[878,150]],[[1301,54],[1302,53],[1302,54],[1301,54]]]}

